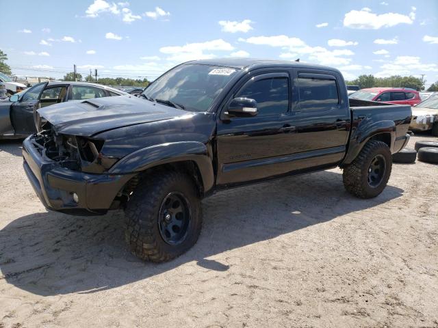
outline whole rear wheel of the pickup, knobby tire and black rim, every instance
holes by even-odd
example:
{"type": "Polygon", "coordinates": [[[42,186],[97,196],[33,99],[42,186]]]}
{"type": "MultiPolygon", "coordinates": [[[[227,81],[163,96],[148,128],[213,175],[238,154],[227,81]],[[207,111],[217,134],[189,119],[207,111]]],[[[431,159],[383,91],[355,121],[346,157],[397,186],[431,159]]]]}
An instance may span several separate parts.
{"type": "Polygon", "coordinates": [[[359,198],[376,197],[385,189],[391,168],[391,151],[387,144],[368,141],[355,161],[344,167],[344,187],[359,198]]]}

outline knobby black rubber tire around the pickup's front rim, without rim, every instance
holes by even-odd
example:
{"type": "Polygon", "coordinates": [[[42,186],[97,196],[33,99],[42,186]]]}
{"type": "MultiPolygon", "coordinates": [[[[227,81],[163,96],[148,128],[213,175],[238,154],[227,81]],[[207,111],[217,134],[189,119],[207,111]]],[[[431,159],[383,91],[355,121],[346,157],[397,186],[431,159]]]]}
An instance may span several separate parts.
{"type": "Polygon", "coordinates": [[[166,262],[188,251],[201,233],[202,209],[198,189],[187,175],[157,171],[140,180],[125,209],[125,239],[131,253],[145,261],[166,262]],[[169,245],[159,230],[159,211],[169,193],[181,193],[190,204],[191,219],[185,239],[169,245]]]}

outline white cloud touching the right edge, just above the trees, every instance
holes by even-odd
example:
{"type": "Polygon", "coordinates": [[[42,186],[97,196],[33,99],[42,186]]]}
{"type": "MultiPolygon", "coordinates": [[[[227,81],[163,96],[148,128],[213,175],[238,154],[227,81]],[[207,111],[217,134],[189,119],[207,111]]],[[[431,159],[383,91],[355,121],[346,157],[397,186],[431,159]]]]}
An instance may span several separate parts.
{"type": "Polygon", "coordinates": [[[383,64],[381,72],[376,77],[390,77],[391,75],[420,74],[422,72],[438,72],[437,64],[422,64],[420,57],[398,56],[393,62],[383,64]]]}

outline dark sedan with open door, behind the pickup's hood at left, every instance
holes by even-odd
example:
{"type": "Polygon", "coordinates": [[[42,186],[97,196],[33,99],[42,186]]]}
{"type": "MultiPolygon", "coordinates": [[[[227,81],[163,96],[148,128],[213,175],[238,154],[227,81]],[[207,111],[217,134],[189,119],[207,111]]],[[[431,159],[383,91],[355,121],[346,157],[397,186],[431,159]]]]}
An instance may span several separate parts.
{"type": "Polygon", "coordinates": [[[112,87],[84,82],[43,82],[0,101],[0,139],[27,137],[36,132],[36,109],[70,100],[125,94],[112,87]]]}

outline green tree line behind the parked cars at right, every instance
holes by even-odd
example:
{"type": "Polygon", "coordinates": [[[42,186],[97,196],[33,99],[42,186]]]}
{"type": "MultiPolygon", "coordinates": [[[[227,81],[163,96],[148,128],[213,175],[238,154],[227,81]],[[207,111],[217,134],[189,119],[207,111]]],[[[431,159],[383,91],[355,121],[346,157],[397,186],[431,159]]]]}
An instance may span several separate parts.
{"type": "MultiPolygon", "coordinates": [[[[346,83],[348,85],[359,85],[361,89],[366,87],[410,87],[417,91],[423,91],[426,81],[413,76],[401,77],[400,75],[393,75],[392,77],[374,77],[372,74],[363,74],[357,79],[346,81],[346,83]]],[[[438,81],[430,85],[426,91],[438,91],[438,81]]]]}

